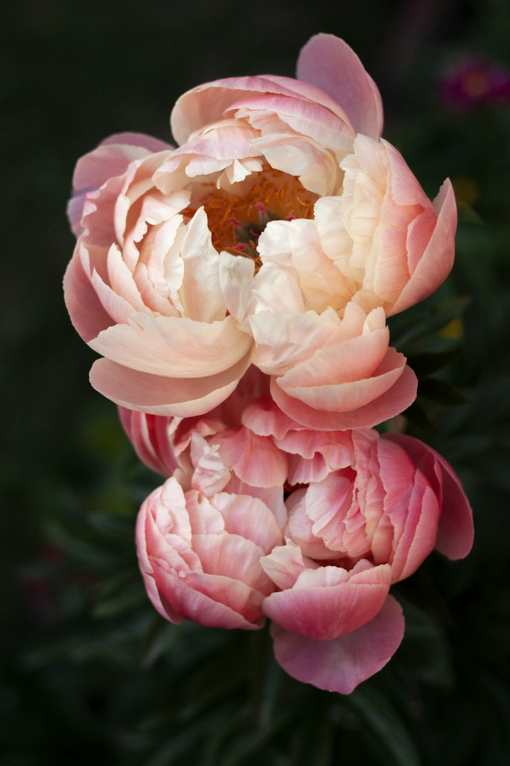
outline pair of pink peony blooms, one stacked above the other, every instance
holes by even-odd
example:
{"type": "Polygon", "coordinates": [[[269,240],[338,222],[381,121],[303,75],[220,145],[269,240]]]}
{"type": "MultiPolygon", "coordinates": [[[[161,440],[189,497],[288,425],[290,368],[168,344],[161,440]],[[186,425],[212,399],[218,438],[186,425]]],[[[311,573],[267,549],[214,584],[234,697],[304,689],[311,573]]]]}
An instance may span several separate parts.
{"type": "Polygon", "coordinates": [[[332,35],[297,79],[206,83],[178,147],[112,136],[76,165],[64,289],[139,457],[140,568],[173,622],[260,628],[291,676],[349,693],[404,631],[391,583],[471,511],[440,455],[372,427],[417,380],[386,317],[453,264],[450,182],[430,201],[382,139],[382,104],[332,35]]]}

